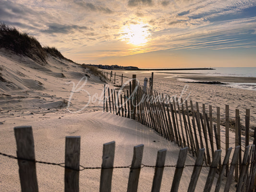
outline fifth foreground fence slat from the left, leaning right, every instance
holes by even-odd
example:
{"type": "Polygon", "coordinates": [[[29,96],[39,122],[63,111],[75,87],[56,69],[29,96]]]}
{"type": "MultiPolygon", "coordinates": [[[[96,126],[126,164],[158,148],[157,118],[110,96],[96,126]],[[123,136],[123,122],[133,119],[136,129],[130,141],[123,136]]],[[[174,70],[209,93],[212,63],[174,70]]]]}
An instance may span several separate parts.
{"type": "Polygon", "coordinates": [[[166,149],[162,149],[158,151],[158,157],[156,162],[155,174],[152,184],[151,192],[159,192],[162,182],[162,176],[164,171],[164,163],[166,157],[166,149]]]}

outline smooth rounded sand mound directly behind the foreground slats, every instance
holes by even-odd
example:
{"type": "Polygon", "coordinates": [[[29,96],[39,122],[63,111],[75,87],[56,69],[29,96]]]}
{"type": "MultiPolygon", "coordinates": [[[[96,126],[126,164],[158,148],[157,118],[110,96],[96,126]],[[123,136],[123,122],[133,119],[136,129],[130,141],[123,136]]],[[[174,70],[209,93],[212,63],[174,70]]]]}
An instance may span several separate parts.
{"type": "MultiPolygon", "coordinates": [[[[38,118],[38,114],[34,119],[38,118]]],[[[144,144],[143,164],[155,165],[157,151],[168,150],[166,165],[175,165],[179,148],[159,136],[157,133],[142,126],[140,123],[104,112],[86,112],[83,114],[64,114],[61,119],[57,114],[47,114],[45,119],[34,121],[15,119],[16,124],[32,125],[36,158],[48,162],[64,162],[65,136],[81,136],[81,159],[83,166],[100,167],[102,144],[116,141],[114,166],[128,166],[131,164],[133,147],[144,144]]],[[[15,140],[12,125],[3,127],[0,131],[1,151],[15,155],[15,140]],[[4,138],[4,139],[3,139],[4,138]]],[[[0,157],[1,170],[0,188],[5,191],[19,191],[19,177],[16,160],[0,157]]],[[[186,165],[194,164],[195,159],[188,155],[186,165]]],[[[197,191],[203,191],[207,168],[202,169],[197,191]]],[[[183,172],[180,192],[186,191],[191,177],[192,168],[186,167],[183,172]]],[[[129,169],[114,169],[112,181],[113,192],[126,191],[129,169]]],[[[143,168],[139,180],[139,192],[148,192],[151,189],[154,169],[143,168]]],[[[165,168],[162,192],[171,189],[174,168],[165,168]]],[[[63,191],[64,169],[56,166],[37,164],[37,178],[41,192],[63,191]]],[[[81,191],[96,192],[99,188],[100,170],[84,170],[80,173],[81,191]]],[[[233,187],[233,185],[232,185],[233,187]]]]}

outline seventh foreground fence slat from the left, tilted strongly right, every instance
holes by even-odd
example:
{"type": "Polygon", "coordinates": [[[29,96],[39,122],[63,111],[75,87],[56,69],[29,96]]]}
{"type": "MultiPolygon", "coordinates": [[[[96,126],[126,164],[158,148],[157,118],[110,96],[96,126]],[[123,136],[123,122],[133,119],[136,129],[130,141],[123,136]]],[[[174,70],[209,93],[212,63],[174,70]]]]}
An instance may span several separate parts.
{"type": "Polygon", "coordinates": [[[188,186],[188,192],[195,192],[195,187],[196,187],[196,183],[199,177],[199,174],[201,172],[201,166],[203,164],[204,161],[204,153],[205,153],[205,148],[203,149],[199,149],[197,152],[197,157],[195,160],[195,167],[193,169],[193,173],[191,175],[191,180],[188,186]]]}

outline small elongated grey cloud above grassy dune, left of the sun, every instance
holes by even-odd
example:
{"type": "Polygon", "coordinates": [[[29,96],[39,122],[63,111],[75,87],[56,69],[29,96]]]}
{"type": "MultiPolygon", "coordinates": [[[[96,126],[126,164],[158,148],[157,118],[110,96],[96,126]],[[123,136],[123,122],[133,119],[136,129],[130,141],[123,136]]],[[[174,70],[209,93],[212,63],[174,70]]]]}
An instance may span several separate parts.
{"type": "Polygon", "coordinates": [[[88,30],[89,28],[86,26],[78,26],[78,25],[65,25],[65,24],[49,24],[48,29],[42,30],[43,33],[53,34],[53,33],[61,33],[61,34],[69,34],[72,33],[73,30],[88,30]]]}

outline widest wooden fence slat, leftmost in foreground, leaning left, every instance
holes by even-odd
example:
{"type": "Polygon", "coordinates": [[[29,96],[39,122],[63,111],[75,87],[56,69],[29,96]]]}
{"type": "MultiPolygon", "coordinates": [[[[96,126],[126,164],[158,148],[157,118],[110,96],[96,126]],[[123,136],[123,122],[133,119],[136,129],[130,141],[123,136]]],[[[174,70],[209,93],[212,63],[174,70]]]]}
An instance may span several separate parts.
{"type": "Polygon", "coordinates": [[[38,192],[35,146],[31,126],[14,127],[22,192],[38,192]],[[25,160],[27,159],[27,160],[25,160]]]}

